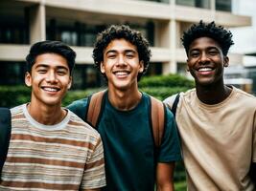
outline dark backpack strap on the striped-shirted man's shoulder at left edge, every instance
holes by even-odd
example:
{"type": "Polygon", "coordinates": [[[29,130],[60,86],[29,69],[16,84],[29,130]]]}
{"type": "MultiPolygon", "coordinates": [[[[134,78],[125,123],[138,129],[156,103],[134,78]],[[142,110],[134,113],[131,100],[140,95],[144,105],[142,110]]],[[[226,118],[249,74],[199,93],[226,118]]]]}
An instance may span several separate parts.
{"type": "Polygon", "coordinates": [[[8,108],[0,108],[0,174],[5,163],[9,142],[11,138],[11,111],[8,108]]]}

